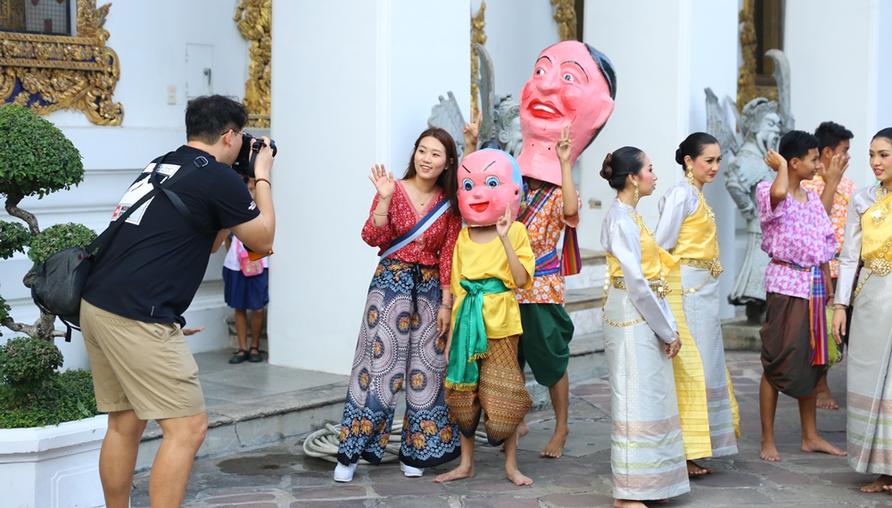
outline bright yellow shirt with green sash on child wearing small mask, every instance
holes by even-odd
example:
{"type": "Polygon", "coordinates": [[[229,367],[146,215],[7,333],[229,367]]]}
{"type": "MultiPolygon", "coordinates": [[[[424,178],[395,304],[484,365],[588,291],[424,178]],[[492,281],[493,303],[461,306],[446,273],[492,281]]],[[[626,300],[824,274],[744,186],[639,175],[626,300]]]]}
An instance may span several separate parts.
{"type": "MultiPolygon", "coordinates": [[[[536,258],[533,248],[530,247],[530,237],[526,234],[526,227],[515,222],[508,229],[508,241],[526,269],[526,285],[528,290],[533,287],[533,272],[536,268],[536,258]]],[[[450,292],[455,295],[452,303],[452,326],[455,327],[455,317],[458,308],[465,299],[467,291],[461,287],[461,281],[477,281],[480,279],[500,279],[510,290],[516,290],[517,284],[511,276],[511,268],[508,266],[508,254],[498,237],[491,242],[476,243],[467,233],[467,226],[458,234],[455,242],[455,250],[452,253],[452,282],[450,292]]],[[[514,291],[483,295],[483,323],[486,325],[486,337],[488,339],[503,339],[512,335],[520,335],[524,332],[520,324],[520,306],[514,291]]]]}

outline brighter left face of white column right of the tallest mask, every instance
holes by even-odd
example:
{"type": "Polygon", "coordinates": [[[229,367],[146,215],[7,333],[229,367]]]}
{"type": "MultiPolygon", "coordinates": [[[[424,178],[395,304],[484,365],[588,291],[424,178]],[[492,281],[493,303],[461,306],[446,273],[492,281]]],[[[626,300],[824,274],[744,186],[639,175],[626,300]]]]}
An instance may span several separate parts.
{"type": "Polygon", "coordinates": [[[659,178],[657,193],[639,205],[651,227],[657,225],[658,196],[682,177],[674,158],[689,124],[690,14],[685,12],[690,12],[690,0],[601,0],[585,5],[585,42],[613,62],[616,104],[604,130],[580,158],[579,231],[584,248],[601,248],[601,221],[616,195],[599,176],[607,152],[632,145],[652,160],[659,178]],[[589,200],[601,201],[601,209],[589,208],[589,200]]]}

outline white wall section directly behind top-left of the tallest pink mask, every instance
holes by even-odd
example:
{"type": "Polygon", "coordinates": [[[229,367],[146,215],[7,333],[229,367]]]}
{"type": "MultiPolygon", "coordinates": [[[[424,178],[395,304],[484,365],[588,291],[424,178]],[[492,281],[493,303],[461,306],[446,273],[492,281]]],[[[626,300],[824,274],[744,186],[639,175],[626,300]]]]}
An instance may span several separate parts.
{"type": "MultiPolygon", "coordinates": [[[[481,0],[472,0],[472,13],[481,0]]],[[[496,73],[495,93],[511,94],[520,102],[520,90],[533,74],[539,53],[560,42],[555,8],[542,0],[489,0],[486,2],[486,50],[496,73]]]]}

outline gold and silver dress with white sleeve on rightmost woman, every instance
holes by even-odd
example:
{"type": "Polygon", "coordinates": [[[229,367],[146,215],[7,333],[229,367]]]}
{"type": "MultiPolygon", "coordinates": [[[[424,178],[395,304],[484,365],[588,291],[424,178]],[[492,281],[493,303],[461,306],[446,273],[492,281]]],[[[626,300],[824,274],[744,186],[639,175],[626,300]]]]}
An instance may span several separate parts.
{"type": "Polygon", "coordinates": [[[892,474],[892,194],[871,185],[852,196],[834,303],[852,300],[848,345],[848,463],[892,474]],[[858,286],[852,283],[863,259],[858,286]]]}

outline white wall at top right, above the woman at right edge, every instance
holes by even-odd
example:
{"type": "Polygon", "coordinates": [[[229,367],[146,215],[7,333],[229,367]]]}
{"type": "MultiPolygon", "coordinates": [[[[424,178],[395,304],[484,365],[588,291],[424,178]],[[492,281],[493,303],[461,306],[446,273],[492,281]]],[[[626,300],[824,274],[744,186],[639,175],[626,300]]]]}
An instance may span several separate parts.
{"type": "MultiPolygon", "coordinates": [[[[889,53],[888,0],[788,0],[784,51],[789,57],[791,102],[797,129],[814,132],[825,120],[846,126],[855,134],[846,176],[857,187],[874,177],[867,152],[878,126],[878,112],[887,122],[889,70],[878,56],[889,53]],[[880,19],[880,6],[885,18],[880,19]],[[880,27],[886,45],[880,45],[880,27]],[[880,92],[881,89],[881,92],[880,92]],[[885,110],[880,108],[883,97],[885,110]]],[[[886,57],[888,62],[888,56],[886,57]]]]}

